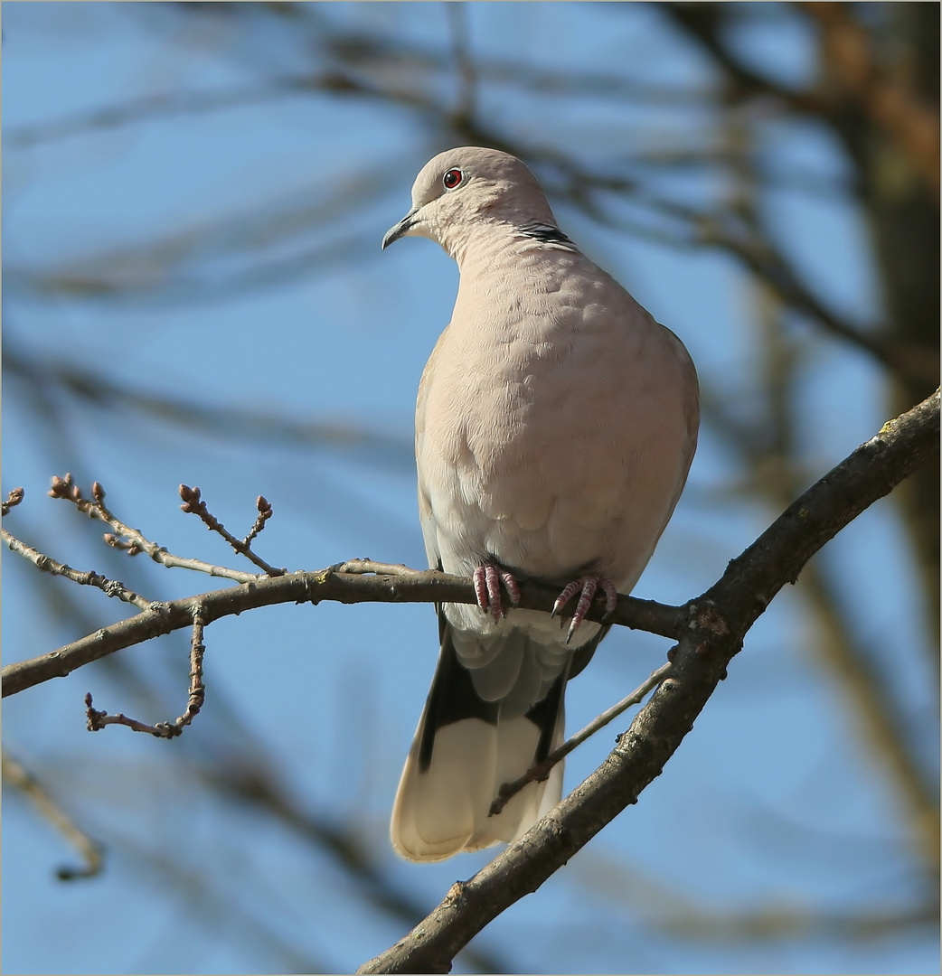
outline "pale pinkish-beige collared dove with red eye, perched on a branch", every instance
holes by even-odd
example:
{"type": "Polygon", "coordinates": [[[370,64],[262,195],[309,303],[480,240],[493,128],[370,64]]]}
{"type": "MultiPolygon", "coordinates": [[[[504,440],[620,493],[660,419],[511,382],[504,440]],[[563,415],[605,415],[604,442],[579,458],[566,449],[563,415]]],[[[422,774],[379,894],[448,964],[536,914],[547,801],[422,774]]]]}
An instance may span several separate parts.
{"type": "Polygon", "coordinates": [[[608,628],[583,622],[630,592],[693,459],[686,349],[559,230],[533,174],[493,149],[435,156],[390,228],[437,241],[461,272],[416,406],[430,565],[472,577],[477,606],[438,607],[440,653],[392,809],[395,850],[440,861],[512,841],[562,794],[562,763],[489,816],[501,785],[563,740],[566,682],[608,628]],[[568,630],[505,613],[515,577],[577,594],[568,630]]]}

